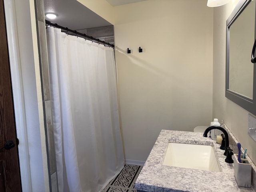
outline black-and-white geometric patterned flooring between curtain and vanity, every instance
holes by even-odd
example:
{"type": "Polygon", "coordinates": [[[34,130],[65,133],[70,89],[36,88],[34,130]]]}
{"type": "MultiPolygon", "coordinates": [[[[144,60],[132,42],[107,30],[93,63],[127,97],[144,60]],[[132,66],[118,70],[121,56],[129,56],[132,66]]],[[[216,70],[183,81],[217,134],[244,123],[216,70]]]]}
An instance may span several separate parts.
{"type": "Polygon", "coordinates": [[[125,164],[124,168],[112,179],[102,192],[136,192],[134,184],[142,166],[125,164]]]}

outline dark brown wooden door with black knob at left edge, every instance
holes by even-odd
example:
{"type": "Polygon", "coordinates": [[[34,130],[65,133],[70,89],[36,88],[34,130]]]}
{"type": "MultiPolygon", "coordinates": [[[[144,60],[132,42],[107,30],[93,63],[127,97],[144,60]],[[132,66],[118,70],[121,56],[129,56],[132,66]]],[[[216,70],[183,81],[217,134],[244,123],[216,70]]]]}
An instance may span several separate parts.
{"type": "Polygon", "coordinates": [[[3,0],[0,0],[0,148],[0,192],[21,192],[3,0]],[[10,150],[3,148],[7,141],[15,144],[10,150]]]}

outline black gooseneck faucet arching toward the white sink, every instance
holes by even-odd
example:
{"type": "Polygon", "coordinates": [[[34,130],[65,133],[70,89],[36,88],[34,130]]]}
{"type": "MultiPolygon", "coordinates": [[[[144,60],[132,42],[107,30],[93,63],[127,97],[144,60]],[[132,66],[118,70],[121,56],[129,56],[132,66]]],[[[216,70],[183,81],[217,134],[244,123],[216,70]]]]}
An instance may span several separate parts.
{"type": "Polygon", "coordinates": [[[225,162],[227,163],[234,163],[234,160],[232,159],[232,155],[234,154],[232,152],[232,149],[230,148],[229,146],[229,140],[228,140],[228,133],[227,131],[220,127],[220,126],[210,126],[208,127],[205,131],[204,131],[204,137],[207,137],[207,134],[210,130],[212,129],[218,129],[218,130],[221,130],[223,133],[224,133],[224,136],[225,136],[225,152],[224,152],[224,155],[227,156],[226,159],[225,159],[225,162]]]}

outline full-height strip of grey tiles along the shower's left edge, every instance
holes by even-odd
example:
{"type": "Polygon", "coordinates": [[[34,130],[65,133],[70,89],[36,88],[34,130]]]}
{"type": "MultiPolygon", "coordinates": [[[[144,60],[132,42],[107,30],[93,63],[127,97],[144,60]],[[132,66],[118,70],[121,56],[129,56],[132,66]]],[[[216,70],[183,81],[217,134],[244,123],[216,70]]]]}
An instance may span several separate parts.
{"type": "Polygon", "coordinates": [[[58,178],[56,172],[56,156],[54,143],[54,129],[52,124],[52,108],[50,94],[50,73],[48,65],[48,51],[46,42],[44,0],[34,0],[36,10],[38,52],[41,70],[42,93],[44,100],[44,122],[46,130],[49,178],[52,192],[58,192],[58,178]]]}

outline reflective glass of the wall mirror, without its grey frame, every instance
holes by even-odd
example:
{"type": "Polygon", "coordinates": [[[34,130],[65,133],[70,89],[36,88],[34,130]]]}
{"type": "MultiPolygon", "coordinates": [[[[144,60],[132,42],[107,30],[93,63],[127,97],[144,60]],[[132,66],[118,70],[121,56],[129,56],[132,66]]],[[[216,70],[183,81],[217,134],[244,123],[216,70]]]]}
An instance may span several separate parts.
{"type": "Polygon", "coordinates": [[[228,89],[252,99],[255,1],[250,1],[229,27],[228,89]],[[246,30],[245,30],[246,29],[246,30]]]}

